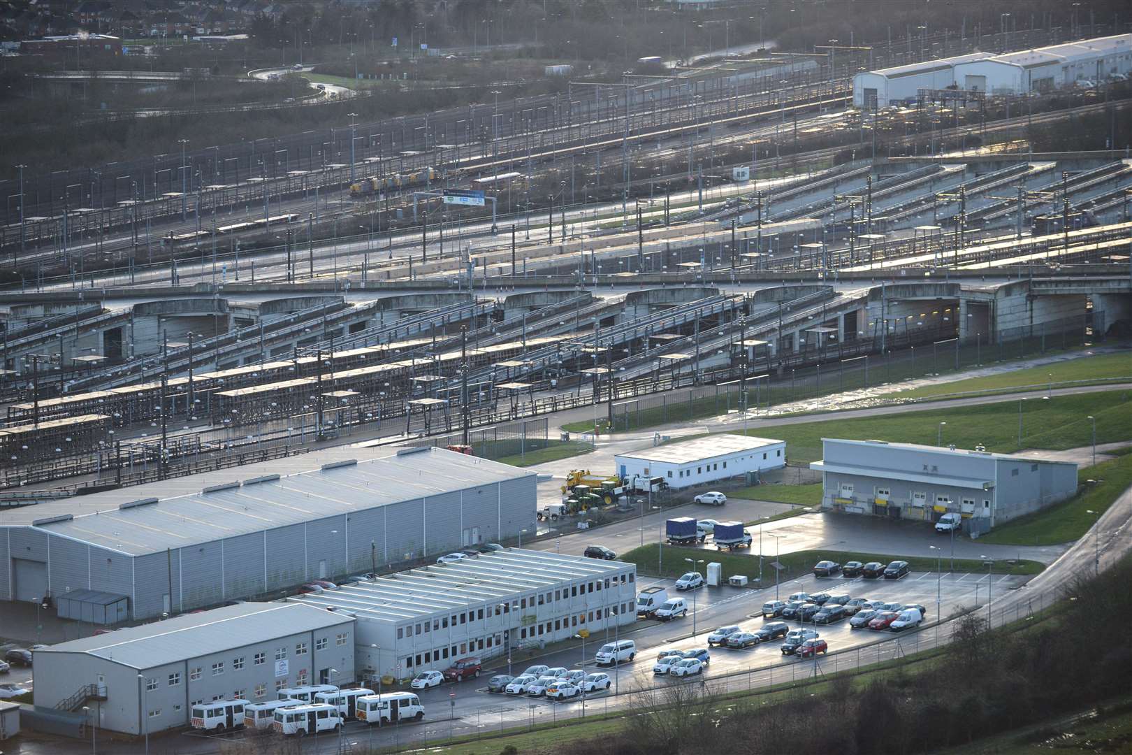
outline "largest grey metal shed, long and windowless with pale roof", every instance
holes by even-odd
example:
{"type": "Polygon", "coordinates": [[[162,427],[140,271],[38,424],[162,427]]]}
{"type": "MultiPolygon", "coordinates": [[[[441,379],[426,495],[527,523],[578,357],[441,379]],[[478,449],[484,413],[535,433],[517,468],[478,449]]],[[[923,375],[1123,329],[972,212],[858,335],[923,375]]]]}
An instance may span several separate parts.
{"type": "Polygon", "coordinates": [[[534,522],[532,472],[440,448],[332,449],[0,513],[0,597],[88,590],[154,618],[513,538],[534,522]]]}

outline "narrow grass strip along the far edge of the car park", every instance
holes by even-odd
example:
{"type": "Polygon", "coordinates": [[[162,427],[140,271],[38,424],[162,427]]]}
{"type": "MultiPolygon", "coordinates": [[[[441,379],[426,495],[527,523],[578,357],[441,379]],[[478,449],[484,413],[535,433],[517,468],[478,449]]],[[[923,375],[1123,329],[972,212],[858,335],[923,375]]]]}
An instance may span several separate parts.
{"type": "MultiPolygon", "coordinates": [[[[662,572],[657,574],[657,550],[659,546],[655,543],[649,546],[641,546],[634,548],[633,550],[621,554],[618,560],[632,561],[637,565],[637,569],[641,574],[649,574],[655,576],[669,576],[677,577],[685,572],[692,570],[685,558],[704,559],[707,561],[719,561],[723,568],[722,578],[727,580],[731,575],[739,574],[746,577],[757,577],[758,576],[758,537],[755,534],[755,541],[752,543],[754,548],[753,555],[747,554],[731,554],[728,551],[710,551],[702,550],[698,548],[684,548],[680,546],[664,546],[663,547],[663,558],[662,572]]],[[[772,560],[778,560],[782,564],[783,568],[780,578],[791,580],[801,574],[809,574],[814,568],[814,564],[821,560],[833,560],[839,564],[844,564],[846,561],[882,561],[887,564],[889,561],[901,559],[908,561],[909,566],[914,572],[934,572],[936,567],[936,559],[926,557],[914,557],[914,556],[891,556],[881,554],[858,554],[852,551],[843,550],[798,550],[792,554],[782,554],[775,557],[773,552],[774,543],[767,539],[763,542],[763,548],[765,557],[763,560],[763,582],[773,581],[774,569],[771,567],[770,563],[772,560]]],[[[950,566],[950,559],[943,559],[944,568],[950,566]]],[[[995,561],[994,573],[995,574],[1038,574],[1045,565],[1038,561],[995,561]]],[[[987,567],[981,559],[955,559],[955,572],[986,572],[987,567]]],[[[830,580],[829,584],[831,586],[837,585],[837,580],[830,580]]]]}

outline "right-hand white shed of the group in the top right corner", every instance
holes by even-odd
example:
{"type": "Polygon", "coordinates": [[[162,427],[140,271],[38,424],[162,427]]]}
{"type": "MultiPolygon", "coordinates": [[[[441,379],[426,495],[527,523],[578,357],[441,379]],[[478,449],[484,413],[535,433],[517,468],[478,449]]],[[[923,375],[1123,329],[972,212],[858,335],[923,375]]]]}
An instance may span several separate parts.
{"type": "Polygon", "coordinates": [[[955,83],[990,94],[1048,92],[1077,81],[1099,84],[1132,70],[1132,34],[1010,52],[955,66],[955,83]]]}

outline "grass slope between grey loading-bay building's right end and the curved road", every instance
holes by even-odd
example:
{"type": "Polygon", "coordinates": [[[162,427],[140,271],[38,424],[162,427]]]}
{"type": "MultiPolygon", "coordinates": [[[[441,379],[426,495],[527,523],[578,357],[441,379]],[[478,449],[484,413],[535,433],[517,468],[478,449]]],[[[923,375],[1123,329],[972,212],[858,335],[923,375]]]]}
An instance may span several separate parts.
{"type": "Polygon", "coordinates": [[[1013,522],[996,526],[979,542],[998,546],[1052,546],[1071,542],[1088,532],[1097,515],[1132,486],[1132,454],[1118,456],[1078,472],[1078,481],[1097,480],[1073,498],[1013,522]],[[1094,511],[1097,514],[1090,514],[1094,511]]]}

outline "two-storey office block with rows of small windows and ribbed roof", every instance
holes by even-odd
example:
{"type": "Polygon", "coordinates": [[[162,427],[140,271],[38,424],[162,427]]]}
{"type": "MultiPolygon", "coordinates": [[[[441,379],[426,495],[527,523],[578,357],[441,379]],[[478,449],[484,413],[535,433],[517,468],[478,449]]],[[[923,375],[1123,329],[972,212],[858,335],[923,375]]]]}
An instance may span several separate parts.
{"type": "Polygon", "coordinates": [[[359,675],[370,680],[583,629],[615,637],[636,620],[635,590],[633,564],[508,548],[290,600],[355,617],[359,675]]]}

